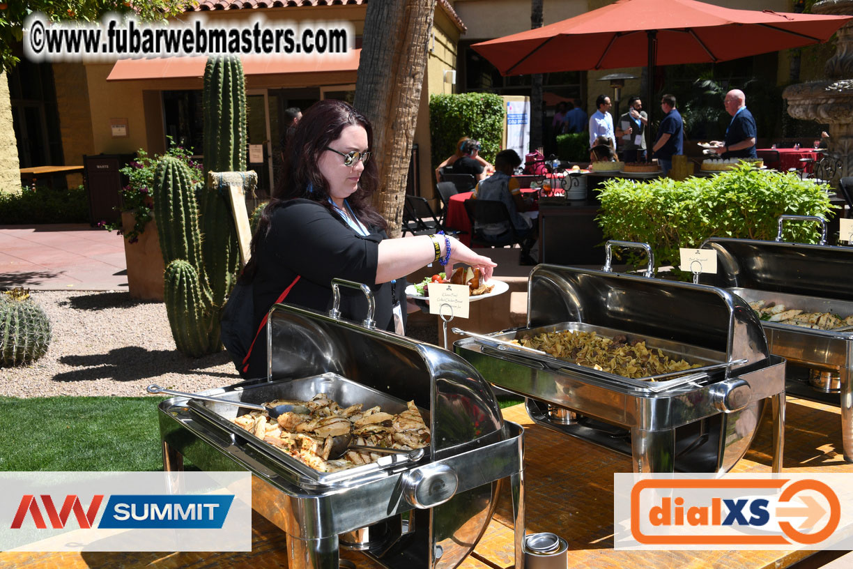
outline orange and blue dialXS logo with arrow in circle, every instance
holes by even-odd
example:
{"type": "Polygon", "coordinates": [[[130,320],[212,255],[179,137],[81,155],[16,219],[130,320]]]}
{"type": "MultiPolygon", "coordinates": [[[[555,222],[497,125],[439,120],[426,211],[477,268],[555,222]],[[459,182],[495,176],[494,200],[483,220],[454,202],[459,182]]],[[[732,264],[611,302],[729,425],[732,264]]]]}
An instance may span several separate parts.
{"type": "Polygon", "coordinates": [[[841,502],[817,479],[641,479],[630,534],[646,546],[814,545],[833,535],[841,502]]]}

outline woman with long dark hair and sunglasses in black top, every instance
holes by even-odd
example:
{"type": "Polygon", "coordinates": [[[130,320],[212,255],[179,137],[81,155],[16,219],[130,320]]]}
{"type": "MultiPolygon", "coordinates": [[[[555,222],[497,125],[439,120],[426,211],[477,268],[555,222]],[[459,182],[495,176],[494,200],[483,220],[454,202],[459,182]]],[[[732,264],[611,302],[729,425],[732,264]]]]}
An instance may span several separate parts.
{"type": "MultiPolygon", "coordinates": [[[[387,238],[386,220],[370,206],[378,186],[375,162],[368,160],[372,144],[368,119],[341,101],[315,103],[293,130],[283,176],[241,275],[241,282],[252,282],[259,338],[265,338],[261,324],[276,302],[328,311],[335,277],[367,284],[374,293],[376,327],[401,334],[403,277],[409,273],[439,261],[449,269],[454,263],[479,267],[490,278],[496,264],[448,235],[387,238]]],[[[341,289],[340,304],[349,320],[367,314],[360,292],[341,289]]],[[[241,367],[249,377],[266,374],[265,344],[255,341],[241,367]]]]}

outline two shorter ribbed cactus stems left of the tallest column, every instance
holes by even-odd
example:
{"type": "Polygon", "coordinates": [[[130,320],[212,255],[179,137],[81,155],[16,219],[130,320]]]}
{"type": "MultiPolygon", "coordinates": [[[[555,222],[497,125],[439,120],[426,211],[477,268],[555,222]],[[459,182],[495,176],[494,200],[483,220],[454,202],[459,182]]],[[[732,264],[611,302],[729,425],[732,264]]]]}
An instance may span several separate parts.
{"type": "Polygon", "coordinates": [[[160,159],[154,173],[154,218],[165,264],[165,309],[177,350],[190,357],[218,351],[218,310],[202,262],[195,188],[188,166],[171,156],[160,159]]]}

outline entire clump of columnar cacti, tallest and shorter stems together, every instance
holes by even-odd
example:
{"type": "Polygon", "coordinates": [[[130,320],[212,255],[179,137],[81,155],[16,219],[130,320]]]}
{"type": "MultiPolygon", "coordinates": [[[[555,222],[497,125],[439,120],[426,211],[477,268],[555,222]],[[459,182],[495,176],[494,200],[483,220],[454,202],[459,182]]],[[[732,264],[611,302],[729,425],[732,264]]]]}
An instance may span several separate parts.
{"type": "MultiPolygon", "coordinates": [[[[246,84],[235,56],[211,57],[204,79],[206,171],[246,170],[246,84]]],[[[154,180],[154,217],[165,262],[165,305],[178,351],[199,357],[222,348],[219,311],[240,269],[228,195],[201,190],[189,170],[164,157],[154,180]]]]}

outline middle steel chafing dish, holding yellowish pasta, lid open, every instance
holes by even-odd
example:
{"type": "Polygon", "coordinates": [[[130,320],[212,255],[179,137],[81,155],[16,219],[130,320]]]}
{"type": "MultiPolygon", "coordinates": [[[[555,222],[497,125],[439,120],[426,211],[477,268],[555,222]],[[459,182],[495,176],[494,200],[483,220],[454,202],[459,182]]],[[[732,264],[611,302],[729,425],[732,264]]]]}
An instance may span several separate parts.
{"type": "Polygon", "coordinates": [[[757,317],[734,294],[543,264],[529,278],[527,318],[525,328],[455,347],[486,380],[525,396],[533,421],[630,455],[635,472],[726,472],[770,399],[779,472],[785,362],[770,355],[757,317]],[[627,334],[701,367],[630,380],[494,341],[559,329],[627,334]]]}

